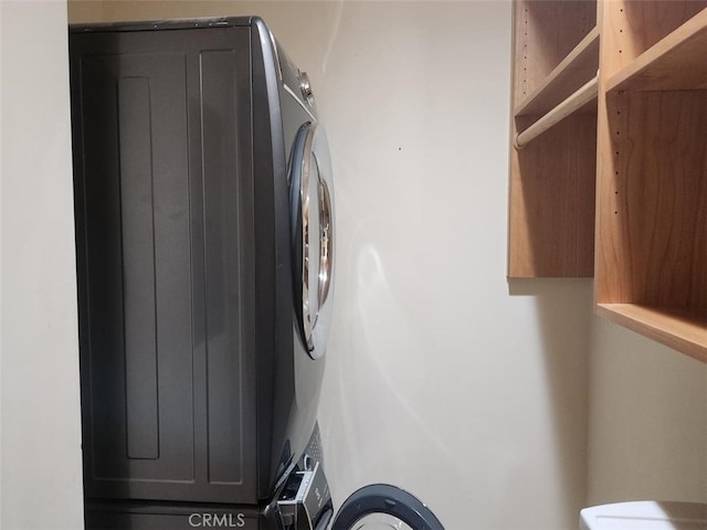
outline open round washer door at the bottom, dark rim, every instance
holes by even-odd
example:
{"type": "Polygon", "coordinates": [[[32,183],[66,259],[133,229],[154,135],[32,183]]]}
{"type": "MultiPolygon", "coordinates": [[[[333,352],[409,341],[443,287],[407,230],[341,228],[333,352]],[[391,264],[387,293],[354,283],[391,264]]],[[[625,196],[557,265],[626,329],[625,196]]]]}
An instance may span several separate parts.
{"type": "Polygon", "coordinates": [[[413,495],[388,484],[372,484],[346,499],[331,530],[444,530],[444,527],[413,495]]]}

